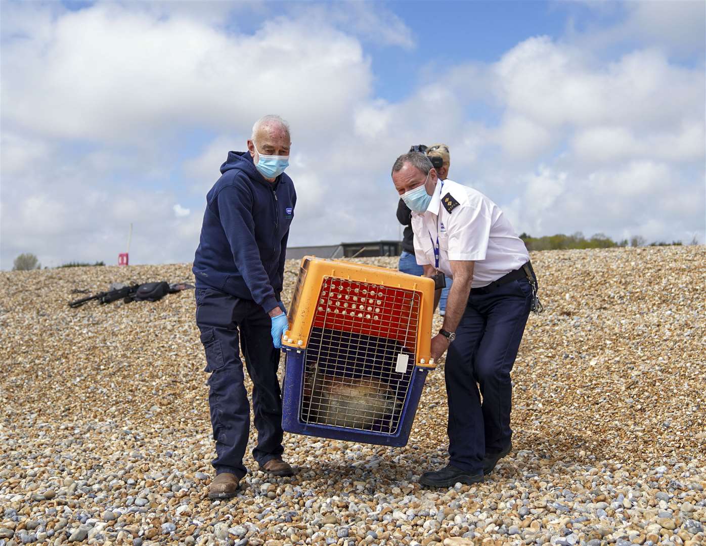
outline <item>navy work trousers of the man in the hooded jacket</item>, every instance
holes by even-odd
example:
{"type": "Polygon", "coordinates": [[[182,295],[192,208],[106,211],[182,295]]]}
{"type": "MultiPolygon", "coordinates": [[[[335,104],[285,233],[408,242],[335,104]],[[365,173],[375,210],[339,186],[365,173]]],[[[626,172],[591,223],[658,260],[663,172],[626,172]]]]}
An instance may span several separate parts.
{"type": "Polygon", "coordinates": [[[254,423],[258,443],[253,458],[261,465],[282,455],[282,396],[277,368],[280,350],[273,346],[271,320],[251,300],[214,289],[196,289],[196,324],[206,353],[208,405],[216,441],[216,473],[242,478],[250,433],[250,404],[244,385],[242,348],[253,382],[254,423]]]}

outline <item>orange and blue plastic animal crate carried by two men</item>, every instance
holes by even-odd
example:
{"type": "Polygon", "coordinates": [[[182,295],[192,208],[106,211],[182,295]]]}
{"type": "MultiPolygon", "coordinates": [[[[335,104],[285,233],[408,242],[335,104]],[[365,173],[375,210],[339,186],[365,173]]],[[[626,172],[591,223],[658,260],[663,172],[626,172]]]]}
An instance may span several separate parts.
{"type": "Polygon", "coordinates": [[[434,283],[307,256],[285,332],[282,427],[404,446],[429,368],[434,283]]]}

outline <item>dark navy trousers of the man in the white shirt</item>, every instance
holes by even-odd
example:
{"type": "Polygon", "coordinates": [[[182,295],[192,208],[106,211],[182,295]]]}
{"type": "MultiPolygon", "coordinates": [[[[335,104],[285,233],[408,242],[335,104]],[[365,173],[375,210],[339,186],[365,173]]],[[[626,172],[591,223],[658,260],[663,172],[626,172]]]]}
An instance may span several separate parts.
{"type": "Polygon", "coordinates": [[[472,291],[448,348],[445,380],[449,462],[482,474],[486,452],[501,451],[513,433],[510,370],[530,315],[532,286],[522,279],[477,292],[472,291]]]}

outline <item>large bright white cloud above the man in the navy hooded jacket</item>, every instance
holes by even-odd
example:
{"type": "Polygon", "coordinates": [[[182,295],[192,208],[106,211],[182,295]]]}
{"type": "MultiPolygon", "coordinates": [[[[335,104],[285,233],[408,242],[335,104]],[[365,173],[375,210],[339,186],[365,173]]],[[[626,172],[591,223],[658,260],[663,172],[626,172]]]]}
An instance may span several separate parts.
{"type": "Polygon", "coordinates": [[[357,40],[330,27],[310,32],[282,17],[233,37],[179,11],[155,19],[131,4],[64,13],[51,32],[3,49],[6,123],[105,142],[243,126],[258,117],[253,107],[300,127],[316,125],[311,111],[339,123],[371,80],[357,40]]]}

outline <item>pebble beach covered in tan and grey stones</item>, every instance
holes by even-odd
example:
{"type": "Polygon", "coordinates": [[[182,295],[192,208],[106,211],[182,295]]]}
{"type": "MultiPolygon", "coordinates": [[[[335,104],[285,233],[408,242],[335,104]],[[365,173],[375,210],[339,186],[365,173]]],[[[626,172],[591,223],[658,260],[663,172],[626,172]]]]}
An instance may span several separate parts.
{"type": "Polygon", "coordinates": [[[489,480],[416,483],[445,464],[442,360],[407,447],[285,435],[297,476],[251,472],[229,502],[205,496],[193,293],[66,305],[112,281],[189,281],[190,265],[0,273],[0,546],[706,542],[704,247],[532,261],[546,312],[513,372],[515,449],[489,480]]]}

